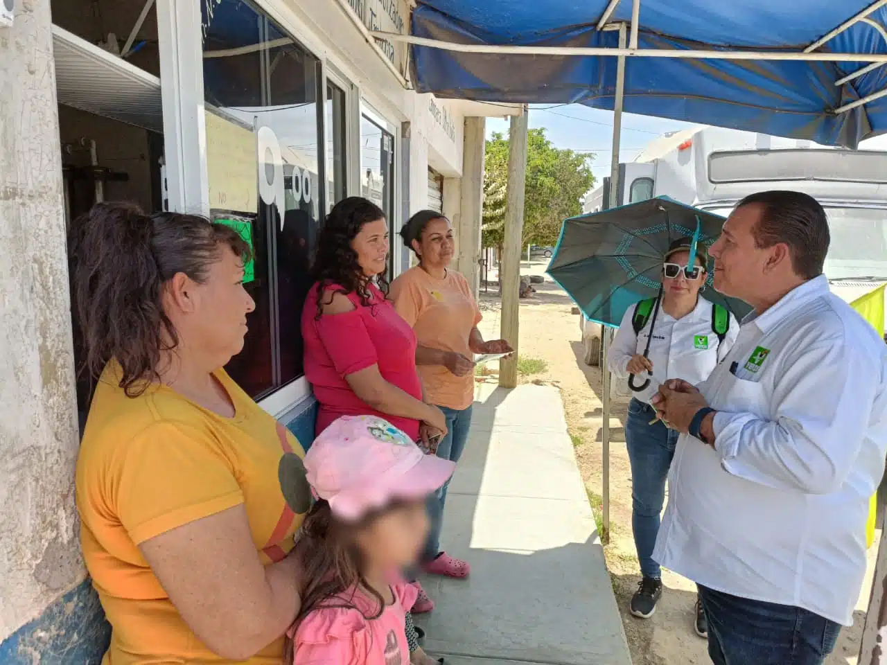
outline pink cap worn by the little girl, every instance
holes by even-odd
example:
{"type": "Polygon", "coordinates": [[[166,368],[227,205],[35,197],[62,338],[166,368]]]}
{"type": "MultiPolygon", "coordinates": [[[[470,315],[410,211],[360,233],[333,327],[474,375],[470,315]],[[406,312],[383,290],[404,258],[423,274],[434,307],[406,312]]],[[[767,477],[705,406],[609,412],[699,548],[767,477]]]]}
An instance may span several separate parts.
{"type": "Polygon", "coordinates": [[[311,444],[304,465],[315,496],[350,521],[392,499],[427,497],[456,469],[455,462],[424,454],[406,434],[373,416],[335,420],[311,444]]]}

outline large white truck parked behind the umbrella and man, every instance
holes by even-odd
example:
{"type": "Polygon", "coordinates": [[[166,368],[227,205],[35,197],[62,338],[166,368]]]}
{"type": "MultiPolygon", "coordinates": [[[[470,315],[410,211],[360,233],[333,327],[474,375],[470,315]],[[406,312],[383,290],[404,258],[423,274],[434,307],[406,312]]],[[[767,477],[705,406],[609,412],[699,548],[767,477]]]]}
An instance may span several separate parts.
{"type": "MultiPolygon", "coordinates": [[[[585,213],[608,207],[609,178],[585,198],[585,213]]],[[[850,151],[812,141],[699,127],[656,138],[619,165],[618,205],[666,195],[718,215],[754,192],[795,190],[828,214],[826,275],[852,301],[887,281],[887,137],[850,151]]],[[[600,363],[600,325],[582,317],[585,363],[600,363]]]]}

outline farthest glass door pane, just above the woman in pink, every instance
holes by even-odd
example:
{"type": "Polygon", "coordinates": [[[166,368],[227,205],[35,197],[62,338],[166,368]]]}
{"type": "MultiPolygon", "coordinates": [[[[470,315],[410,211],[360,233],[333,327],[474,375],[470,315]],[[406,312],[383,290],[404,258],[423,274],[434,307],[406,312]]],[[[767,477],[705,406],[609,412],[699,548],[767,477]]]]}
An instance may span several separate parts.
{"type": "Polygon", "coordinates": [[[394,137],[366,116],[360,119],[361,192],[381,207],[391,232],[389,279],[394,278],[394,137]]]}

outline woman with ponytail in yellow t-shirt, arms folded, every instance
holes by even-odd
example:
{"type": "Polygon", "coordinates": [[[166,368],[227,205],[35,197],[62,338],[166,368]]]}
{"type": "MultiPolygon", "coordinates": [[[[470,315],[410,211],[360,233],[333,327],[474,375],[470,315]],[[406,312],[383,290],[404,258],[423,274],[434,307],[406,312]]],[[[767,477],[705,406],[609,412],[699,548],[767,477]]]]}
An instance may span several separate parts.
{"type": "Polygon", "coordinates": [[[98,377],[76,497],[113,629],[105,665],[281,662],[310,494],[287,483],[284,498],[285,454],[302,448],[222,369],[255,309],[248,254],[191,215],[99,204],[75,223],[75,309],[98,377]]]}

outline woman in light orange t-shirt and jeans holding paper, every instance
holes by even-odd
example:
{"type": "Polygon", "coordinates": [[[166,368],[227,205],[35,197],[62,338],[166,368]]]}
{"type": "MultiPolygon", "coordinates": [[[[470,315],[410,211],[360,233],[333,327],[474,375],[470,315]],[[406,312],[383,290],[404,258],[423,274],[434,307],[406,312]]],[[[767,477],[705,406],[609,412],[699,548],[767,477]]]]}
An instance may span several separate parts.
{"type": "MultiPolygon", "coordinates": [[[[474,355],[510,353],[512,348],[505,340],[484,341],[477,330],[481,311],[474,294],[465,278],[449,267],[453,255],[450,220],[434,210],[422,210],[404,224],[400,235],[419,265],[394,280],[391,298],[416,332],[416,365],[426,397],[446,416],[447,434],[437,446],[437,455],[458,462],[471,427],[474,355]]],[[[431,531],[422,567],[432,575],[466,577],[467,562],[440,548],[446,491],[444,485],[428,500],[431,531]]]]}

